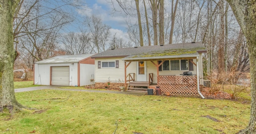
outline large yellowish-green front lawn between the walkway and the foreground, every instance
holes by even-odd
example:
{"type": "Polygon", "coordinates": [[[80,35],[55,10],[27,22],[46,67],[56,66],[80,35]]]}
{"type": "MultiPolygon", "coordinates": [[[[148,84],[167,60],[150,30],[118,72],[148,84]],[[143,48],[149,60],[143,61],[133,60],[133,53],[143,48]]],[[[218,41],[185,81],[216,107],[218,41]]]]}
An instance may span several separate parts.
{"type": "Polygon", "coordinates": [[[0,113],[0,133],[113,134],[118,124],[115,134],[234,134],[250,118],[250,104],[232,100],[60,90],[19,92],[16,99],[38,110],[0,113]]]}

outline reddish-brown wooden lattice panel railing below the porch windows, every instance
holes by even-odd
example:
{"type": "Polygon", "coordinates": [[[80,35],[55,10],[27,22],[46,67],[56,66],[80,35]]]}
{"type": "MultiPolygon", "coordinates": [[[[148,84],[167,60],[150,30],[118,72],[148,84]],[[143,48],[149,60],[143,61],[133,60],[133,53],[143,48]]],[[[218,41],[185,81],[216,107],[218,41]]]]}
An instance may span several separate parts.
{"type": "Polygon", "coordinates": [[[197,96],[196,76],[158,76],[158,86],[162,94],[197,96]]]}

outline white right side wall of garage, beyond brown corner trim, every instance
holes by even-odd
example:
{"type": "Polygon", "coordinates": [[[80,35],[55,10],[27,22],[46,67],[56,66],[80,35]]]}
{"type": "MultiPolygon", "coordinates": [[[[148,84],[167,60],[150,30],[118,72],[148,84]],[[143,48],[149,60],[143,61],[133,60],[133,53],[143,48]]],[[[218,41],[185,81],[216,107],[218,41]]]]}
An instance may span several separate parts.
{"type": "Polygon", "coordinates": [[[94,84],[93,82],[90,81],[91,77],[94,78],[95,76],[94,69],[95,69],[94,65],[92,64],[80,64],[80,86],[87,86],[87,85],[94,84]]]}

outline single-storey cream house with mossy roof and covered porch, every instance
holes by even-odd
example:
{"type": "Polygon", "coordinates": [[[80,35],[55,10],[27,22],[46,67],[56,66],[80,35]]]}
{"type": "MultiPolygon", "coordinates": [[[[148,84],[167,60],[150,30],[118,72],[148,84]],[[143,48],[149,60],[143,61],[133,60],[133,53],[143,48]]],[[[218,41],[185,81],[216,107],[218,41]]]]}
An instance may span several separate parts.
{"type": "Polygon", "coordinates": [[[106,50],[92,56],[95,82],[115,83],[128,90],[145,90],[155,84],[162,94],[198,95],[204,52],[201,42],[106,50]]]}

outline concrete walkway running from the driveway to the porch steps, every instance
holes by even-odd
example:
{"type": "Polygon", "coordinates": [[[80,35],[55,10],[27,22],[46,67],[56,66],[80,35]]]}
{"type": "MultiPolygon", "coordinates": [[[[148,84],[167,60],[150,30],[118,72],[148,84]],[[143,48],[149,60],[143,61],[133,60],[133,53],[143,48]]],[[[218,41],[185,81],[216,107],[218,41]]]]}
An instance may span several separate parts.
{"type": "Polygon", "coordinates": [[[43,90],[43,89],[51,89],[51,90],[66,90],[66,91],[80,91],[80,92],[102,92],[102,93],[112,93],[112,94],[131,94],[131,95],[137,95],[142,96],[146,93],[144,92],[122,92],[122,91],[111,91],[111,90],[81,90],[81,89],[64,89],[59,88],[62,86],[36,86],[36,87],[30,87],[30,88],[17,88],[14,89],[14,92],[27,92],[27,91],[34,91],[34,90],[43,90]]]}

